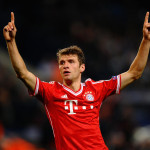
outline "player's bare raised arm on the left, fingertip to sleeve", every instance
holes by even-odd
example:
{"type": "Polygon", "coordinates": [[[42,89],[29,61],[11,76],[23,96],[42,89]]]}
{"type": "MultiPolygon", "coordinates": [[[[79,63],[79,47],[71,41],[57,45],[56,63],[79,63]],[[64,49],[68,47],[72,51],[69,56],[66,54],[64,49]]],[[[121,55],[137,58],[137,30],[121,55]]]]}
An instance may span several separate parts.
{"type": "Polygon", "coordinates": [[[15,17],[14,13],[11,12],[11,22],[9,22],[3,29],[3,35],[6,40],[11,63],[17,77],[21,79],[31,91],[34,91],[36,77],[27,70],[26,65],[18,51],[15,41],[16,32],[15,17]]]}

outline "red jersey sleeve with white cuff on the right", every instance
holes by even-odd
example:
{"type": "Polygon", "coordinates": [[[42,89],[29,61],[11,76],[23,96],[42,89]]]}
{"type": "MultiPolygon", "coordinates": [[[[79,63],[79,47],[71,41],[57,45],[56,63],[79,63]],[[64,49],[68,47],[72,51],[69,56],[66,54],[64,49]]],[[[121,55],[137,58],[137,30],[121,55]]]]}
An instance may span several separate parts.
{"type": "Polygon", "coordinates": [[[110,80],[103,82],[103,92],[105,97],[112,94],[120,94],[121,75],[113,76],[110,80]]]}

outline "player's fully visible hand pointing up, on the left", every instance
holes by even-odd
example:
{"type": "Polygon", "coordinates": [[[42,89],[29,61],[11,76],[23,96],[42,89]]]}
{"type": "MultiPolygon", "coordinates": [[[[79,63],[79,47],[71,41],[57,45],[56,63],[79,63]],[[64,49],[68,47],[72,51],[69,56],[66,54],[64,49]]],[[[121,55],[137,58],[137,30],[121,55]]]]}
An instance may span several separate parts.
{"type": "Polygon", "coordinates": [[[8,23],[3,29],[3,35],[6,41],[12,41],[15,39],[17,29],[15,27],[15,16],[11,12],[11,22],[8,23]]]}

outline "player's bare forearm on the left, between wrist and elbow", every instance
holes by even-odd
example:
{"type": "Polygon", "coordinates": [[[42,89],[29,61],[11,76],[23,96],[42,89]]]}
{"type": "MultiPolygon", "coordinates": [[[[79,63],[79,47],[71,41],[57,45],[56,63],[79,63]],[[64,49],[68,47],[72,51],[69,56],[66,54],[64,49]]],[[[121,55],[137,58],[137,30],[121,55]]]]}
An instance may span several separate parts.
{"type": "Polygon", "coordinates": [[[17,74],[17,77],[20,78],[23,74],[25,74],[25,72],[27,72],[26,65],[18,51],[15,39],[12,41],[6,41],[6,43],[12,66],[17,74]]]}

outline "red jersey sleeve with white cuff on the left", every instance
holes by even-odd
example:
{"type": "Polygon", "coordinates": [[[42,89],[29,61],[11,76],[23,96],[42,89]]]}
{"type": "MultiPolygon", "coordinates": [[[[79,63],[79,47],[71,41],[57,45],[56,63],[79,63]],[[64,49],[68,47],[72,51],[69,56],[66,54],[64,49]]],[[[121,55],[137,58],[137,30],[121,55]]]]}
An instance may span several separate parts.
{"type": "Polygon", "coordinates": [[[37,97],[40,101],[47,103],[52,99],[54,82],[44,82],[36,77],[36,85],[34,92],[29,91],[30,96],[37,97]]]}

